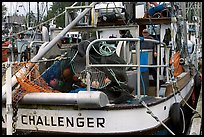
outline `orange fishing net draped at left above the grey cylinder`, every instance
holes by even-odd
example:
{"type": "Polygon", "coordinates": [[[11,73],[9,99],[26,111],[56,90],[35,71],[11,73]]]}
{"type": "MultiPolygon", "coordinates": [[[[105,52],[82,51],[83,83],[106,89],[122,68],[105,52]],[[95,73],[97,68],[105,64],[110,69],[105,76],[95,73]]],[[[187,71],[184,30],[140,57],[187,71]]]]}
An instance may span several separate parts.
{"type": "Polygon", "coordinates": [[[18,70],[15,76],[20,84],[13,94],[13,102],[16,104],[23,96],[31,92],[54,92],[59,93],[58,90],[53,90],[41,77],[39,66],[34,63],[16,63],[13,70],[18,70]],[[21,68],[21,69],[19,69],[21,68]]]}

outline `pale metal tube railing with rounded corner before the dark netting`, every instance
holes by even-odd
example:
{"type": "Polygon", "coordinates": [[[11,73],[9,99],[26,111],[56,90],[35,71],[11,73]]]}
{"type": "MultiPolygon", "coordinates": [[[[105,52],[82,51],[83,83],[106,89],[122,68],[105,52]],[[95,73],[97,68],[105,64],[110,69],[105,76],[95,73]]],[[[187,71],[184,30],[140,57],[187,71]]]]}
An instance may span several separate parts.
{"type": "MultiPolygon", "coordinates": [[[[168,47],[165,46],[165,43],[157,41],[157,40],[152,40],[152,39],[144,39],[144,41],[150,41],[153,43],[157,44],[157,65],[141,65],[140,64],[140,42],[141,39],[140,38],[103,38],[103,39],[96,39],[94,41],[92,41],[86,50],[86,71],[87,71],[87,76],[86,76],[86,80],[87,80],[87,91],[90,91],[90,87],[91,87],[91,82],[90,82],[90,68],[91,67],[136,67],[137,68],[137,95],[140,96],[140,68],[150,68],[150,67],[154,67],[157,68],[157,97],[159,96],[159,74],[160,74],[160,68],[161,67],[166,67],[166,78],[167,78],[167,82],[169,81],[169,74],[168,74],[168,68],[169,68],[169,57],[165,56],[165,64],[161,65],[160,64],[160,48],[164,47],[165,49],[165,53],[168,53],[168,47]],[[91,49],[91,47],[96,44],[97,42],[104,42],[104,41],[135,41],[137,44],[135,44],[135,49],[136,49],[136,64],[93,64],[90,62],[89,59],[89,51],[91,49]]],[[[123,45],[124,46],[124,45],[123,45]]]]}

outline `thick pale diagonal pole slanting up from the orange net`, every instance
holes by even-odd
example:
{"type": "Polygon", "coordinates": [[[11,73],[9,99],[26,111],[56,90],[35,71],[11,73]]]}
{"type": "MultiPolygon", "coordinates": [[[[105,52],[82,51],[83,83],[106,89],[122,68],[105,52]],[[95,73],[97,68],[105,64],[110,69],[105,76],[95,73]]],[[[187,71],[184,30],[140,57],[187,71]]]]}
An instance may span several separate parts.
{"type": "MultiPolygon", "coordinates": [[[[92,2],[90,6],[94,6],[97,2],[92,2]]],[[[78,15],[72,23],[64,28],[52,41],[50,41],[45,47],[40,48],[38,54],[31,59],[31,62],[37,62],[41,59],[59,40],[63,37],[81,18],[90,11],[91,8],[85,9],[80,15],[78,15]]],[[[25,69],[25,68],[23,68],[25,69]]],[[[17,83],[16,77],[12,77],[12,87],[17,83]]],[[[6,94],[6,85],[2,86],[2,97],[6,94]]]]}

